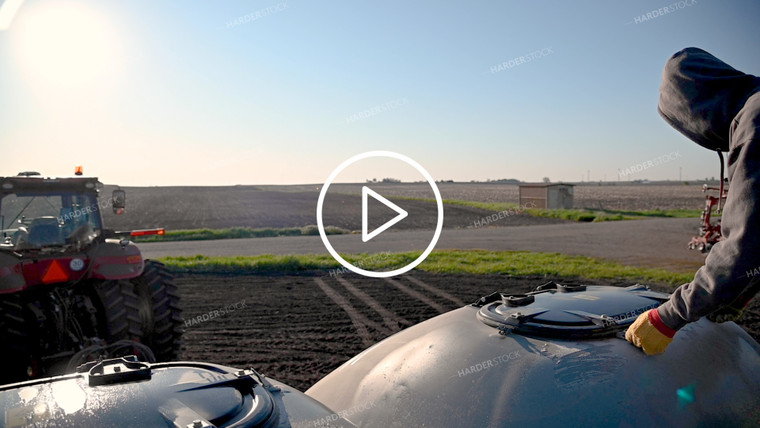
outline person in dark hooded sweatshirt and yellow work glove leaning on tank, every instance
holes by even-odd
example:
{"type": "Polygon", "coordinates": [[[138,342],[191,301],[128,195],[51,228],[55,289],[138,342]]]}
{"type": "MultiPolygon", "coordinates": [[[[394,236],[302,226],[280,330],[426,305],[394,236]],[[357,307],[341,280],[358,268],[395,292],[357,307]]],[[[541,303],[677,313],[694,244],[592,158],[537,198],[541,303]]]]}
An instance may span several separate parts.
{"type": "Polygon", "coordinates": [[[647,355],[665,352],[678,330],[703,316],[713,322],[737,319],[760,288],[760,78],[687,48],[665,65],[658,111],[686,137],[718,152],[721,183],[721,152],[728,152],[729,188],[723,239],[704,266],[626,332],[647,355]]]}

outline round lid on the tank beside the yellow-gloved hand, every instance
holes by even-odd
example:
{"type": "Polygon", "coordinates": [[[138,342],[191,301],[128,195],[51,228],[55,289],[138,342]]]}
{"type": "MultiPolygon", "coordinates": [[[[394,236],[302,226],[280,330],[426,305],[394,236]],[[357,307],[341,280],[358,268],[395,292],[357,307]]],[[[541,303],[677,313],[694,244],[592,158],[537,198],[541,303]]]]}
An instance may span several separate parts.
{"type": "Polygon", "coordinates": [[[526,294],[494,293],[473,305],[478,319],[504,334],[552,338],[614,336],[670,296],[645,285],[612,287],[548,282],[526,294]]]}

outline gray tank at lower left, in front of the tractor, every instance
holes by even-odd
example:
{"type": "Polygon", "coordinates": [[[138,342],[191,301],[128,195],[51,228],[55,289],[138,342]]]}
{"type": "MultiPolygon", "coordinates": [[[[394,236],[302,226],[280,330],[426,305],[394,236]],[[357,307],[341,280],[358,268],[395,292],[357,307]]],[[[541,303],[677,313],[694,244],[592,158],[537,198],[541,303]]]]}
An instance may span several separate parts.
{"type": "Polygon", "coordinates": [[[3,427],[354,427],[254,370],[115,358],[0,387],[3,427]]]}

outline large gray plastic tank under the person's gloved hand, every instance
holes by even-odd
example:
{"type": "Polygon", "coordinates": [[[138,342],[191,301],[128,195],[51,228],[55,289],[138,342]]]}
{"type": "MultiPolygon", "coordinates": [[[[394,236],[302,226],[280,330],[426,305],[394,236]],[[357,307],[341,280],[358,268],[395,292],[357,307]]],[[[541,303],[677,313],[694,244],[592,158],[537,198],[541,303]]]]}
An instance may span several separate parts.
{"type": "Polygon", "coordinates": [[[734,323],[683,328],[647,357],[627,327],[645,286],[494,293],[352,358],[306,394],[366,427],[758,426],[760,345],[734,323]]]}

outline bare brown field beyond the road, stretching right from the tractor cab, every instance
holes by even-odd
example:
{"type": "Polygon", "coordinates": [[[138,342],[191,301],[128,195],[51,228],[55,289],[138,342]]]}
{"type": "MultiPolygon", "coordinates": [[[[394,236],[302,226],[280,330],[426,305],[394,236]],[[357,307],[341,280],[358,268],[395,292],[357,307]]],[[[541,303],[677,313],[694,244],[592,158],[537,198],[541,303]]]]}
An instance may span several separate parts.
{"type": "MultiPolygon", "coordinates": [[[[282,190],[282,188],[288,188],[282,190]]],[[[219,229],[225,227],[284,228],[314,225],[317,222],[317,199],[314,191],[266,190],[254,186],[240,187],[148,187],[127,190],[127,213],[114,215],[104,210],[109,228],[129,230],[152,227],[167,229],[219,229]]],[[[361,192],[361,190],[359,190],[361,192]]],[[[110,194],[109,191],[105,192],[110,194]]],[[[427,229],[436,224],[434,203],[416,200],[393,200],[409,212],[409,217],[394,229],[427,229]]],[[[428,197],[432,197],[428,195],[428,197]]],[[[374,201],[373,201],[374,202],[374,201]]],[[[379,202],[376,203],[381,206],[379,202]]],[[[381,206],[382,207],[382,206],[381,206]]],[[[373,213],[375,208],[372,208],[373,213]]],[[[387,209],[377,224],[393,218],[387,209]]],[[[324,204],[325,226],[361,230],[360,194],[328,193],[324,204]]],[[[444,227],[466,228],[492,214],[491,211],[465,206],[447,206],[444,227]]],[[[373,214],[374,217],[374,214],[373,214]]],[[[563,220],[515,215],[510,225],[553,224],[563,220]]]]}

